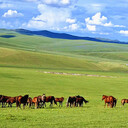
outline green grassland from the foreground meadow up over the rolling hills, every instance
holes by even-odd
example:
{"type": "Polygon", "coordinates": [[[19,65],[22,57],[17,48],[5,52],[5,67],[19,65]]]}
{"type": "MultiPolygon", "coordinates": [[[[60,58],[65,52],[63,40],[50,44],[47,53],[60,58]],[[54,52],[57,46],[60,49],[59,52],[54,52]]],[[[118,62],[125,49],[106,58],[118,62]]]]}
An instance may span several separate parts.
{"type": "Polygon", "coordinates": [[[1,108],[0,128],[122,128],[128,127],[128,45],[50,39],[11,34],[0,37],[0,94],[34,97],[63,96],[63,107],[42,109],[1,108]],[[83,47],[84,46],[84,47],[83,47]],[[90,74],[46,74],[44,71],[90,74]],[[99,75],[94,76],[94,75],[99,75]],[[104,77],[102,77],[104,76],[104,77]],[[115,108],[104,108],[102,95],[118,99],[115,108]],[[89,103],[67,108],[68,96],[82,95],[89,103]]]}

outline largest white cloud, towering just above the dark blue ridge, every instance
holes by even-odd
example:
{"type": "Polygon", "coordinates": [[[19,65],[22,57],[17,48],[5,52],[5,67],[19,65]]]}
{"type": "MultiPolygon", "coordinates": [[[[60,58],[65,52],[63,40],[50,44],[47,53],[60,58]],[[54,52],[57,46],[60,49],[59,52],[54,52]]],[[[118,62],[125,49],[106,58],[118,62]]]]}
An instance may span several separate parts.
{"type": "MultiPolygon", "coordinates": [[[[67,8],[49,7],[44,4],[38,5],[40,15],[33,17],[26,26],[36,29],[58,29],[63,28],[66,19],[70,19],[71,10],[67,8]]],[[[25,25],[25,24],[24,24],[25,25]]]]}

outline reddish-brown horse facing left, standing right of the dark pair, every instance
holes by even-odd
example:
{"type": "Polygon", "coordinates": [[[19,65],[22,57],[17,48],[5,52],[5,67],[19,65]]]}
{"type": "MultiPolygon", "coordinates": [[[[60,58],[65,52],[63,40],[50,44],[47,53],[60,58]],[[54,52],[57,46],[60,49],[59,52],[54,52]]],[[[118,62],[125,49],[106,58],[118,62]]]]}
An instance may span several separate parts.
{"type": "Polygon", "coordinates": [[[104,100],[104,102],[105,102],[104,107],[106,107],[106,104],[107,104],[107,106],[110,105],[110,107],[113,108],[114,106],[116,106],[116,103],[117,103],[117,99],[113,96],[103,95],[102,100],[104,100]]]}

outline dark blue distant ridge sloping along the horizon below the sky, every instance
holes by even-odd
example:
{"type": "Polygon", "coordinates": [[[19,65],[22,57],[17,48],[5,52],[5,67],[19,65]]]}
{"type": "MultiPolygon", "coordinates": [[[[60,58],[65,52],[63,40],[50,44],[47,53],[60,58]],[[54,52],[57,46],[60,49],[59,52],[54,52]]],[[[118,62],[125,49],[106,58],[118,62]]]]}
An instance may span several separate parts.
{"type": "Polygon", "coordinates": [[[109,40],[104,38],[92,38],[92,37],[79,37],[79,36],[74,36],[66,33],[50,32],[47,30],[30,31],[26,29],[15,29],[14,31],[24,35],[40,35],[40,36],[45,36],[49,38],[69,39],[69,40],[89,40],[89,41],[98,41],[98,42],[107,42],[107,43],[128,44],[128,42],[121,42],[118,40],[109,40]]]}

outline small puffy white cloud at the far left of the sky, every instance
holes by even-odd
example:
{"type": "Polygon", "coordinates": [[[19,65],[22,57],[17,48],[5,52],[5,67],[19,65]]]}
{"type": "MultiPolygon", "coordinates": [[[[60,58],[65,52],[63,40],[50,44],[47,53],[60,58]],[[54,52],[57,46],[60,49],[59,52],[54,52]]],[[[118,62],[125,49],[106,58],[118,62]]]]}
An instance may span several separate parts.
{"type": "Polygon", "coordinates": [[[3,14],[3,17],[21,17],[23,16],[22,13],[18,13],[16,10],[8,10],[3,14]]]}

